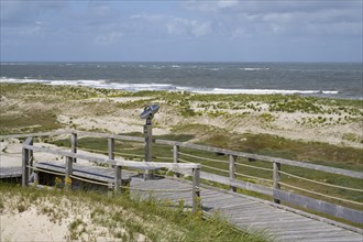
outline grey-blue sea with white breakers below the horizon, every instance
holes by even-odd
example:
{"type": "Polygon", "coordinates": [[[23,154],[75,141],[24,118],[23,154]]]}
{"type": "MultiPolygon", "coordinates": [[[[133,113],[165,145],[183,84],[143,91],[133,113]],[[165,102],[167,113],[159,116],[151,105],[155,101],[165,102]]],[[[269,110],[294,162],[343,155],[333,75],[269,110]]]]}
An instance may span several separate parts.
{"type": "Polygon", "coordinates": [[[6,63],[0,82],[363,99],[362,63],[6,63]]]}

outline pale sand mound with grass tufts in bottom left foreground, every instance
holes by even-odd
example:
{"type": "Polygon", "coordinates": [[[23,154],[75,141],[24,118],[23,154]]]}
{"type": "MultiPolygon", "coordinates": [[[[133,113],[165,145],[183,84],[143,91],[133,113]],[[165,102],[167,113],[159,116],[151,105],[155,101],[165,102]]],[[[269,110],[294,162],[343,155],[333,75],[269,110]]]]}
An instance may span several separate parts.
{"type": "MultiPolygon", "coordinates": [[[[66,196],[42,197],[30,204],[29,197],[9,195],[2,199],[3,209],[0,211],[1,241],[123,241],[130,238],[124,226],[111,229],[106,224],[98,224],[91,216],[95,207],[85,201],[76,201],[66,196]],[[41,199],[41,200],[40,200],[41,199]]],[[[95,206],[95,204],[92,204],[95,206]]],[[[108,207],[105,215],[98,219],[108,219],[111,213],[108,207]]],[[[124,211],[122,207],[114,211],[124,212],[124,216],[136,218],[136,215],[124,211]]],[[[97,220],[98,221],[98,220],[97,220]]],[[[133,234],[132,241],[150,241],[144,234],[133,234]]]]}

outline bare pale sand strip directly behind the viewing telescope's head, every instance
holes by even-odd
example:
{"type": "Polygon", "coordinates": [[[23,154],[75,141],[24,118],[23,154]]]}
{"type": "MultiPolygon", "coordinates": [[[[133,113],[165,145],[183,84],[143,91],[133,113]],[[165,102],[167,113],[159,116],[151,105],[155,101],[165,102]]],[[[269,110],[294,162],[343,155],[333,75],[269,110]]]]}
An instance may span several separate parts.
{"type": "MultiPolygon", "coordinates": [[[[145,98],[150,100],[152,97],[145,98]]],[[[98,103],[108,101],[110,106],[128,102],[129,99],[107,98],[98,99],[98,103]]],[[[300,140],[305,142],[322,142],[334,145],[352,146],[363,148],[363,123],[362,122],[338,122],[346,114],[338,113],[305,113],[305,112],[277,112],[270,111],[268,105],[261,103],[260,110],[243,109],[219,109],[222,114],[213,114],[213,111],[205,111],[198,108],[200,103],[191,105],[193,110],[201,116],[183,117],[176,110],[178,107],[164,105],[161,100],[160,112],[154,118],[153,133],[163,135],[172,133],[173,128],[188,124],[202,124],[224,129],[230,133],[254,133],[272,134],[289,140],[300,140]],[[243,114],[249,113],[249,114],[243,114]],[[328,120],[319,123],[319,120],[328,120]],[[331,121],[331,122],[329,122],[331,121]],[[346,139],[351,136],[352,139],[346,139]]],[[[209,103],[212,105],[212,103],[209,103]]],[[[100,129],[111,133],[142,132],[144,120],[140,119],[142,105],[140,108],[129,108],[125,110],[114,110],[111,114],[92,114],[87,110],[70,108],[58,114],[58,121],[67,127],[84,130],[100,129]],[[76,109],[76,110],[74,110],[76,109]]]]}

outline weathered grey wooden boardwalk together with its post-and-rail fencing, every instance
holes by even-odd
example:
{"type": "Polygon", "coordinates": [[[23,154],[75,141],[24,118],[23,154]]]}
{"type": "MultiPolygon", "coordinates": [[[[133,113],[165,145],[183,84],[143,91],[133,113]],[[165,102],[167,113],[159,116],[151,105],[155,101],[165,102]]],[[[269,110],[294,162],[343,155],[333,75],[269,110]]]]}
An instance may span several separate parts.
{"type": "MultiPolygon", "coordinates": [[[[33,168],[33,161],[37,161],[35,168],[37,168],[38,173],[46,172],[51,174],[48,177],[45,177],[44,180],[54,180],[54,175],[69,177],[73,180],[74,188],[79,185],[82,186],[79,180],[87,180],[87,183],[97,184],[98,186],[106,187],[106,189],[114,189],[114,191],[118,193],[121,190],[120,188],[128,185],[129,177],[132,177],[130,184],[130,194],[132,197],[138,196],[141,198],[147,198],[153,196],[155,199],[167,199],[168,201],[175,204],[178,204],[183,199],[185,201],[186,209],[191,208],[193,211],[198,210],[198,197],[200,196],[201,208],[205,215],[212,215],[217,212],[237,228],[251,231],[262,230],[265,233],[271,234],[275,241],[363,241],[363,232],[359,228],[353,228],[278,205],[279,201],[287,202],[323,212],[334,218],[352,221],[355,224],[363,224],[362,210],[343,207],[338,204],[328,202],[323,199],[320,200],[314,197],[302,196],[301,194],[294,193],[289,189],[282,189],[280,187],[284,186],[294,189],[301,189],[320,196],[321,198],[328,197],[356,206],[362,206],[362,202],[356,200],[348,200],[346,197],[337,197],[337,195],[329,196],[329,194],[326,194],[323,190],[316,193],[315,190],[309,190],[308,187],[297,187],[302,183],[294,185],[286,179],[292,176],[310,184],[319,184],[329,188],[363,193],[360,187],[349,186],[349,183],[353,179],[363,179],[363,173],[361,172],[166,140],[153,141],[157,144],[172,147],[173,157],[166,157],[166,163],[125,161],[122,157],[114,158],[114,141],[121,140],[127,142],[144,142],[144,139],[80,131],[78,131],[78,133],[86,136],[107,139],[108,156],[96,156],[94,153],[85,154],[81,148],[77,151],[77,133],[75,132],[70,133],[70,152],[54,147],[51,148],[33,145],[33,139],[28,136],[22,146],[22,158],[19,160],[22,162],[23,167],[22,185],[28,186],[30,179],[35,183],[41,180],[36,173],[30,175],[33,168]],[[191,153],[190,150],[194,151],[194,153],[191,153]],[[202,155],[201,153],[200,155],[196,155],[196,151],[197,154],[199,154],[199,152],[208,152],[208,154],[212,155],[202,157],[206,155],[202,155]],[[38,162],[38,160],[34,158],[34,153],[56,155],[57,157],[63,157],[65,162],[38,162]],[[215,154],[218,154],[218,157],[216,157],[215,154]],[[222,160],[222,157],[220,157],[221,155],[224,157],[227,156],[228,161],[226,161],[226,158],[222,160]],[[76,161],[79,162],[76,163],[76,161]],[[204,163],[201,161],[204,161],[204,163]],[[254,165],[255,161],[263,162],[266,166],[260,167],[254,165]],[[101,166],[92,166],[90,164],[98,164],[101,166]],[[219,165],[215,166],[212,164],[219,165]],[[268,164],[273,167],[271,168],[268,164]],[[114,168],[109,168],[110,165],[114,166],[114,168]],[[145,170],[163,168],[172,170],[176,174],[188,174],[193,177],[193,182],[172,177],[157,177],[155,179],[144,180],[144,178],[138,173],[127,170],[127,167],[145,170]],[[239,169],[239,167],[242,167],[242,169],[239,169]],[[314,170],[315,173],[319,172],[340,175],[348,177],[349,180],[345,180],[345,184],[327,184],[321,182],[323,180],[323,176],[319,177],[320,180],[309,179],[308,177],[302,177],[302,175],[300,175],[304,174],[304,172],[290,174],[285,167],[298,167],[299,170],[308,169],[314,170]],[[272,179],[266,179],[266,177],[256,177],[253,173],[243,174],[243,172],[246,172],[246,168],[268,172],[272,179]],[[224,175],[220,175],[221,173],[224,175]],[[282,174],[284,176],[282,176],[282,174]],[[263,183],[244,182],[243,179],[238,178],[238,176],[249,177],[254,180],[268,182],[270,185],[264,186],[263,183]],[[234,191],[237,189],[244,189],[270,196],[271,199],[274,199],[274,202],[200,185],[199,179],[222,184],[234,191]]],[[[36,135],[40,136],[51,134],[36,135]]],[[[90,150],[88,148],[88,151],[90,150]]],[[[91,152],[99,153],[100,151],[91,152]]],[[[119,154],[122,155],[122,153],[119,154]]],[[[42,158],[44,158],[43,155],[42,158]]],[[[45,158],[43,161],[57,160],[58,158],[45,158]]],[[[20,169],[15,170],[14,168],[9,168],[6,170],[1,168],[1,176],[6,177],[9,174],[19,176],[19,172],[20,169]]]]}

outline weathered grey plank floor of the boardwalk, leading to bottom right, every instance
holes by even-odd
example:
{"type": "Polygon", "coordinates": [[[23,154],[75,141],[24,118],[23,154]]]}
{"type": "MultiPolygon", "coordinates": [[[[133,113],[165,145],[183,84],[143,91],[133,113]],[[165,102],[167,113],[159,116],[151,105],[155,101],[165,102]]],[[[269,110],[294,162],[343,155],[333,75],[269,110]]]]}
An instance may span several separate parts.
{"type": "MultiPolygon", "coordinates": [[[[133,178],[131,188],[186,189],[190,184],[176,179],[156,179],[144,182],[133,178]]],[[[191,205],[189,193],[155,193],[155,198],[177,202],[184,199],[191,205]]],[[[290,211],[286,211],[263,200],[248,196],[202,187],[200,191],[202,209],[206,212],[219,212],[232,224],[241,229],[264,230],[276,241],[359,241],[363,234],[352,232],[326,222],[317,221],[290,211]]]]}

